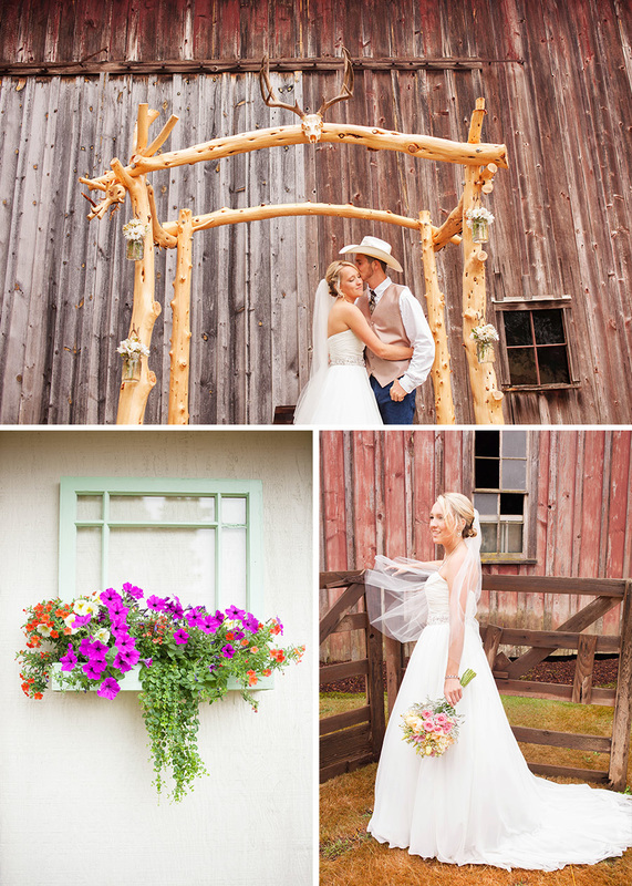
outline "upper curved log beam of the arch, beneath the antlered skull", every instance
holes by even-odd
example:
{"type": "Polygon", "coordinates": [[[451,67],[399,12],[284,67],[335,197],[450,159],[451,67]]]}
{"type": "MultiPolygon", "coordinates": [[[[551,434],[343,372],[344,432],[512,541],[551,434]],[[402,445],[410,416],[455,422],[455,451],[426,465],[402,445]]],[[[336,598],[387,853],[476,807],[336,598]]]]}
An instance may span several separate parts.
{"type": "MultiPolygon", "coordinates": [[[[465,166],[486,166],[495,163],[498,167],[508,168],[506,145],[469,144],[436,138],[432,135],[388,132],[370,126],[353,126],[338,123],[323,123],[320,142],[356,144],[376,151],[398,151],[408,156],[426,159],[456,163],[465,166]]],[[[172,169],[194,163],[217,161],[235,154],[247,154],[265,147],[284,147],[286,145],[309,144],[301,126],[277,126],[269,130],[256,130],[226,138],[215,138],[182,151],[170,151],[155,157],[134,154],[132,163],[125,168],[135,178],[159,169],[172,169]]],[[[112,173],[97,178],[85,179],[91,188],[103,189],[112,179],[112,173]]]]}

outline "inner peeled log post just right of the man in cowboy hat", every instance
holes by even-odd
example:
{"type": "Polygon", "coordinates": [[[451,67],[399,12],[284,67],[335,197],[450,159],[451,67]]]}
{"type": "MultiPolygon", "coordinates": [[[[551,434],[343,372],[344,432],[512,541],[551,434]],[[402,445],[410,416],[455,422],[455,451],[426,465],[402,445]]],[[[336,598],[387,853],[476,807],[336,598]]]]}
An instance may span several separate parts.
{"type": "Polygon", "coordinates": [[[435,340],[435,361],[431,370],[431,375],[435,391],[436,423],[456,424],[452,396],[449,344],[445,322],[445,298],[438,287],[429,212],[424,209],[419,213],[419,223],[422,228],[422,257],[424,261],[424,278],[426,281],[428,324],[435,340]]]}

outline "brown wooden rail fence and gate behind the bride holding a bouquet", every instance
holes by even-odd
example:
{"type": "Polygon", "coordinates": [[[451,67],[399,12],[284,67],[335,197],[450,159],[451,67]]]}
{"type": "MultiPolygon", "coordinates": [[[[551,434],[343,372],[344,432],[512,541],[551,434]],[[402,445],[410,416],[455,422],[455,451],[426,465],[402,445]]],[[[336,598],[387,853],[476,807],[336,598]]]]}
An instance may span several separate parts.
{"type": "MultiPolygon", "coordinates": [[[[322,781],[377,759],[384,736],[384,717],[382,712],[382,720],[380,719],[376,700],[376,694],[381,696],[382,690],[382,636],[371,629],[364,612],[344,618],[349,607],[363,597],[363,576],[362,571],[323,573],[321,576],[321,587],[346,586],[342,597],[321,621],[321,642],[334,630],[363,629],[367,635],[366,658],[322,668],[321,684],[352,673],[365,673],[369,694],[366,707],[321,721],[322,781]],[[376,636],[372,636],[373,633],[376,636]],[[362,731],[356,728],[355,735],[352,735],[349,727],[355,723],[363,723],[362,731]],[[362,753],[359,741],[361,734],[362,753]],[[358,758],[354,755],[356,750],[358,758]]],[[[625,786],[632,725],[632,580],[484,575],[483,587],[485,590],[501,593],[572,594],[594,598],[556,630],[521,630],[487,625],[480,627],[480,636],[496,686],[501,694],[614,708],[610,738],[530,727],[511,728],[516,739],[521,742],[608,753],[610,755],[608,770],[574,769],[527,761],[529,769],[540,775],[562,775],[598,782],[622,791],[625,786]],[[597,619],[619,604],[622,604],[620,636],[583,633],[597,619]],[[503,651],[498,651],[503,645],[529,647],[529,649],[511,661],[503,651]],[[556,649],[578,650],[572,686],[520,679],[556,649]],[[619,655],[615,689],[592,687],[595,652],[619,655]]],[[[384,648],[388,709],[392,710],[404,673],[404,647],[402,643],[385,640],[384,648]]]]}

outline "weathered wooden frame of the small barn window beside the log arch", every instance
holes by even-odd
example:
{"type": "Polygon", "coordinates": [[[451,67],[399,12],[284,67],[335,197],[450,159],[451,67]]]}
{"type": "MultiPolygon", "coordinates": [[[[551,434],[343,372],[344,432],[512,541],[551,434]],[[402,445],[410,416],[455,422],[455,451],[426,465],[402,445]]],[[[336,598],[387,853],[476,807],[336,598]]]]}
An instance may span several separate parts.
{"type": "MultiPolygon", "coordinates": [[[[500,354],[500,387],[503,391],[516,392],[520,393],[521,391],[559,391],[559,390],[570,390],[573,388],[580,387],[580,379],[577,372],[577,360],[574,358],[574,348],[572,344],[572,317],[571,317],[571,307],[572,307],[572,299],[570,296],[537,296],[530,299],[503,299],[501,301],[497,301],[493,299],[491,301],[494,306],[494,310],[500,315],[500,322],[496,322],[496,328],[498,329],[498,334],[500,337],[499,341],[499,354],[500,354]],[[505,318],[504,313],[506,311],[541,311],[541,310],[559,310],[561,312],[561,320],[562,327],[564,332],[564,341],[560,342],[566,348],[567,360],[568,360],[568,369],[569,369],[569,382],[555,382],[552,384],[512,384],[511,383],[511,373],[509,370],[509,358],[508,358],[508,349],[507,349],[507,340],[505,336],[505,318]]],[[[533,347],[536,347],[533,344],[533,347]]]]}

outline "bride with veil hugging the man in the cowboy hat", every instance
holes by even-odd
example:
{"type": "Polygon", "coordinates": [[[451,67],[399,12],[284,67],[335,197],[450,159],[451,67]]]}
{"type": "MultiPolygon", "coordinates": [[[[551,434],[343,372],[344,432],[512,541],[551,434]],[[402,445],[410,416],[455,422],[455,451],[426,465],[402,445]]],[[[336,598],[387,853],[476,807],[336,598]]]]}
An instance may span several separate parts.
{"type": "Polygon", "coordinates": [[[383,423],[364,365],[364,348],[383,360],[407,360],[413,349],[377,338],[354,303],[363,288],[350,261],[333,261],[320,281],[310,380],[301,391],[294,424],[361,427],[383,423]]]}

